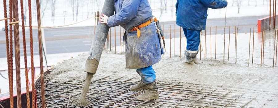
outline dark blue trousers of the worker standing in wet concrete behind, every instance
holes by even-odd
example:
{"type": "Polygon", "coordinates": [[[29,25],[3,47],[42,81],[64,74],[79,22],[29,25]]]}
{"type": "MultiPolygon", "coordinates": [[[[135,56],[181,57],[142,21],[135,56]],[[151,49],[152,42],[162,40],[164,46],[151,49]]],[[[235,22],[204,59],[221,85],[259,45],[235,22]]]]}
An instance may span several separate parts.
{"type": "Polygon", "coordinates": [[[198,51],[200,44],[200,32],[201,30],[192,30],[183,28],[184,35],[186,37],[186,50],[187,51],[198,51]]]}

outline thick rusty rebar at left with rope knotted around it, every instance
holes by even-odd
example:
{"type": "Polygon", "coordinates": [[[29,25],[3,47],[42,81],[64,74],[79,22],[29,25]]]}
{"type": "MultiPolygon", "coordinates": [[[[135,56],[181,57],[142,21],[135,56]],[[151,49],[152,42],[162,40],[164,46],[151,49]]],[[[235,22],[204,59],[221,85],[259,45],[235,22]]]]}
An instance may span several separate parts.
{"type": "MultiPolygon", "coordinates": [[[[14,22],[19,20],[18,0],[13,1],[13,16],[15,17],[14,22]]],[[[16,94],[17,94],[17,107],[21,108],[21,84],[20,84],[20,47],[19,47],[19,24],[16,23],[14,26],[15,33],[15,73],[16,73],[16,94]]]]}

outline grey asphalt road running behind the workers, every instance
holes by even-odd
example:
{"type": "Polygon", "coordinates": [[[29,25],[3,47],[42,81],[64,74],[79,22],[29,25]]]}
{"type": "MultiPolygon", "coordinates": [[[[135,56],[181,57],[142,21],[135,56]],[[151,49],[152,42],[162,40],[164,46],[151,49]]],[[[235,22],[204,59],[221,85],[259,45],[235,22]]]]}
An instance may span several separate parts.
{"type": "MultiPolygon", "coordinates": [[[[238,33],[249,32],[250,28],[255,27],[257,31],[257,20],[265,16],[257,17],[242,17],[242,18],[227,18],[226,20],[226,33],[229,33],[229,26],[231,26],[230,33],[234,32],[234,26],[238,27],[238,33]]],[[[164,28],[165,38],[170,38],[170,25],[171,25],[171,37],[184,36],[183,30],[175,25],[175,22],[160,22],[164,28]],[[181,30],[181,31],[180,31],[181,30]]],[[[212,34],[224,33],[225,19],[208,19],[206,24],[206,35],[210,35],[210,27],[212,27],[212,34]],[[217,31],[215,31],[217,26],[217,31]]],[[[123,28],[112,27],[111,28],[111,44],[115,46],[120,45],[120,35],[123,35],[123,28]],[[116,31],[116,32],[115,32],[116,31]],[[121,34],[120,34],[121,33],[121,34]],[[115,36],[116,34],[116,36],[115,36]]],[[[202,31],[204,33],[204,31],[202,31]]],[[[64,27],[64,28],[46,28],[44,29],[46,38],[47,54],[67,53],[67,52],[84,52],[89,51],[91,47],[91,40],[95,33],[95,27],[64,27]],[[69,39],[70,38],[70,39],[69,39]],[[74,39],[73,39],[74,38],[74,39]]],[[[110,33],[109,33],[110,35],[110,33]]],[[[38,55],[38,42],[37,30],[33,29],[34,38],[34,55],[38,55]],[[36,44],[36,46],[35,46],[36,44]]],[[[22,39],[22,33],[20,32],[20,39],[22,39]]],[[[26,30],[26,39],[29,39],[29,30],[26,30]]],[[[5,40],[5,31],[0,31],[0,41],[5,40]]],[[[30,55],[30,43],[27,42],[27,55],[30,55]],[[28,53],[29,52],[29,53],[28,53]]],[[[123,42],[121,42],[123,44],[123,42]]],[[[20,43],[20,55],[23,56],[23,45],[20,43]]],[[[0,58],[6,57],[6,44],[0,44],[0,58]]]]}

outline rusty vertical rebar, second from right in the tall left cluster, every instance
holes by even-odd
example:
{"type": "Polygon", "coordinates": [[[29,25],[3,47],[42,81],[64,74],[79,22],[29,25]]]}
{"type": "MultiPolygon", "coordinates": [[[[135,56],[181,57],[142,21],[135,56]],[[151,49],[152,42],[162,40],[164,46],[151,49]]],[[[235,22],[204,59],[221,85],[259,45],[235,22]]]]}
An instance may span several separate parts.
{"type": "Polygon", "coordinates": [[[32,81],[32,108],[36,107],[35,100],[35,68],[34,68],[34,52],[33,52],[33,29],[32,29],[32,7],[31,0],[28,0],[29,12],[29,33],[30,33],[30,56],[31,56],[31,81],[32,81]]]}

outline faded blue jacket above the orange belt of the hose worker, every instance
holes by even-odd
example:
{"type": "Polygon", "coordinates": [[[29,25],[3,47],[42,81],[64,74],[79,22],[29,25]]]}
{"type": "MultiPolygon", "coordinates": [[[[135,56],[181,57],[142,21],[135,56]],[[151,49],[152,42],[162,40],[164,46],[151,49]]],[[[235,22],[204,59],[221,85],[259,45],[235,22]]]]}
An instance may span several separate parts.
{"type": "Polygon", "coordinates": [[[130,30],[152,16],[148,0],[114,0],[115,15],[107,20],[109,27],[121,26],[130,30]]]}

